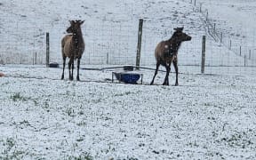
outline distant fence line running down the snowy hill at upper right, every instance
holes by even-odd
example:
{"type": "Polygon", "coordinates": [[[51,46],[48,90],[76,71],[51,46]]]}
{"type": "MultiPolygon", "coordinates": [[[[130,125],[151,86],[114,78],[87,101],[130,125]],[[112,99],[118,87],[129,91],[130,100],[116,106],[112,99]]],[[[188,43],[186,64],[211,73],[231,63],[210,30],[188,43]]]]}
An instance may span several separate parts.
{"type": "MultiPolygon", "coordinates": [[[[207,33],[220,45],[225,46],[231,52],[244,59],[244,66],[247,60],[256,60],[256,31],[250,35],[243,33],[241,30],[233,30],[227,34],[224,29],[219,28],[216,20],[212,19],[211,13],[204,7],[200,0],[183,0],[195,6],[195,12],[201,12],[204,16],[204,25],[207,33]],[[245,36],[246,35],[246,36],[245,36]],[[248,43],[250,42],[250,43],[248,43]]],[[[209,2],[205,2],[207,4],[209,2]]],[[[252,66],[255,66],[254,64],[252,66]]],[[[251,66],[251,67],[252,67],[251,66]]]]}

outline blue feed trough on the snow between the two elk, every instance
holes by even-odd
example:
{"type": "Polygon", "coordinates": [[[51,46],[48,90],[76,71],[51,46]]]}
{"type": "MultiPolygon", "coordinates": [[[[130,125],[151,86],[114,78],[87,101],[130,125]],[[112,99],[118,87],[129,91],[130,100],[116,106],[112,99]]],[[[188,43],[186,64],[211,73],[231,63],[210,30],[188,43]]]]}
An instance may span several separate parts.
{"type": "Polygon", "coordinates": [[[125,84],[137,84],[137,81],[140,79],[141,74],[137,73],[128,73],[128,72],[114,72],[116,79],[125,84]]]}

